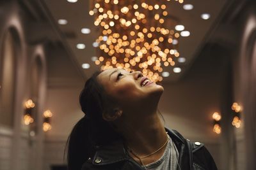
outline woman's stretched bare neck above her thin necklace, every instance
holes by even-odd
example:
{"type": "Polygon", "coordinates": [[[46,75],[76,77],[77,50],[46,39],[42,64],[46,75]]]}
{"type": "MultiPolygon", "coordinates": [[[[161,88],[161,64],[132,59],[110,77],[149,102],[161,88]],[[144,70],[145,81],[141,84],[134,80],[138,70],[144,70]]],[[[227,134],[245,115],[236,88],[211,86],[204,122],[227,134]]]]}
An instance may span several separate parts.
{"type": "Polygon", "coordinates": [[[141,157],[155,152],[168,139],[163,122],[157,113],[122,123],[125,145],[141,157]]]}

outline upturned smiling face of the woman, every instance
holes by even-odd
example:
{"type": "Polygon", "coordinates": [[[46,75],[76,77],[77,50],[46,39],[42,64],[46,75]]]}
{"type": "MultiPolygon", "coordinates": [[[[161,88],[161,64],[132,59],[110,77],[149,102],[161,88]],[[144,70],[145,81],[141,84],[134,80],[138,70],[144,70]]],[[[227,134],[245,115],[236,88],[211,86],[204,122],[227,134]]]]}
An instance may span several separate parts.
{"type": "Polygon", "coordinates": [[[154,81],[148,81],[140,71],[129,73],[124,69],[107,69],[97,77],[99,83],[116,104],[132,106],[132,103],[145,103],[159,100],[163,87],[154,81]],[[144,83],[143,83],[144,82],[144,83]],[[155,99],[154,99],[155,98],[155,99]]]}

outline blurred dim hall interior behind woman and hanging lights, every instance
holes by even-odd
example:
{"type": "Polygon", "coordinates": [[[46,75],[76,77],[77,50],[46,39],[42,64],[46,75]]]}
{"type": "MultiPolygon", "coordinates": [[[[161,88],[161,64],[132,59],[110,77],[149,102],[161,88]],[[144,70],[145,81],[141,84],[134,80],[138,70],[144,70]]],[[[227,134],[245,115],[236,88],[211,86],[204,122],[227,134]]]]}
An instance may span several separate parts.
{"type": "MultiPolygon", "coordinates": [[[[84,115],[79,93],[94,71],[109,66],[100,34],[114,25],[99,25],[97,3],[116,2],[0,1],[0,170],[65,169],[68,134],[84,115]]],[[[153,8],[168,12],[164,26],[178,34],[168,34],[170,63],[146,65],[164,87],[165,126],[204,143],[218,169],[256,169],[256,1],[163,2],[153,8]]]]}

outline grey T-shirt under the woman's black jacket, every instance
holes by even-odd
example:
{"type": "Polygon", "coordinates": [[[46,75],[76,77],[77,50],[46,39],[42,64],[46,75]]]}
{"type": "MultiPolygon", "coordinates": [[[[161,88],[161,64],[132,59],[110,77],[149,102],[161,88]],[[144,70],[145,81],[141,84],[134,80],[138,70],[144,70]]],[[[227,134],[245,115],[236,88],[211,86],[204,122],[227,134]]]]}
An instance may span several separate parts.
{"type": "Polygon", "coordinates": [[[172,141],[172,138],[168,136],[169,142],[166,145],[164,154],[156,162],[152,162],[143,166],[147,170],[176,170],[179,160],[179,152],[172,141]]]}

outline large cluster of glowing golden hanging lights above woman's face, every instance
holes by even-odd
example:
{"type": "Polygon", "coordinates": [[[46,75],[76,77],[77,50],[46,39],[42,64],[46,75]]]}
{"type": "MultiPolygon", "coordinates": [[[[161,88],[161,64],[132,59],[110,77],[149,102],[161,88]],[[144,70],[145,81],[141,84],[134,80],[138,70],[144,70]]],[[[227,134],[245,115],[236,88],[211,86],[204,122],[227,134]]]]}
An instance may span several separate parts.
{"type": "Polygon", "coordinates": [[[150,80],[162,81],[163,66],[174,66],[180,55],[178,22],[168,15],[168,1],[91,0],[89,14],[95,15],[100,31],[95,64],[102,70],[140,70],[150,80]]]}

